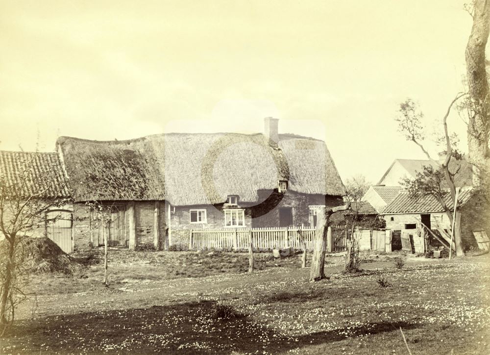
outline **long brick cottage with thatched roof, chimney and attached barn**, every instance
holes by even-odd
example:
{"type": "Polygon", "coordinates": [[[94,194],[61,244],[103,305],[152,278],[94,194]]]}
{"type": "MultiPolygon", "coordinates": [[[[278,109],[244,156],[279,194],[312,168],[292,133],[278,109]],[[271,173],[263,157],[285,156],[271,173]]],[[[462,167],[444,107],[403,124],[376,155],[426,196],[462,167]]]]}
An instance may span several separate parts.
{"type": "Polygon", "coordinates": [[[311,225],[345,188],[325,142],[264,133],[156,134],[125,141],[60,137],[56,150],[73,199],[73,249],[103,243],[189,245],[191,230],[311,225]],[[87,202],[112,206],[93,228],[87,202]]]}

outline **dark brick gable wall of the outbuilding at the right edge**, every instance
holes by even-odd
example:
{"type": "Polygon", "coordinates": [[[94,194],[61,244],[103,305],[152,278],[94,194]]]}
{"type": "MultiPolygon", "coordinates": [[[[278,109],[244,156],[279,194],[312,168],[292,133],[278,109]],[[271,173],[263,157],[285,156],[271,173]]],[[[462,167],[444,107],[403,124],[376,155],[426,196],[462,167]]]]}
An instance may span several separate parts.
{"type": "Polygon", "coordinates": [[[482,229],[490,237],[490,206],[483,196],[475,194],[461,208],[463,248],[477,247],[473,230],[482,229]]]}

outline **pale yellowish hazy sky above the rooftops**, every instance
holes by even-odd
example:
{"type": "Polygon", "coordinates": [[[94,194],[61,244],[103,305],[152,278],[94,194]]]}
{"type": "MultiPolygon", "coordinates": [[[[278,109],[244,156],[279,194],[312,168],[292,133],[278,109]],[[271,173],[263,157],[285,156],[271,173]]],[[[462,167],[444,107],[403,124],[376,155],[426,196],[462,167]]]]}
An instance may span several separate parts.
{"type": "MultiPolygon", "coordinates": [[[[395,158],[425,158],[397,132],[400,102],[432,133],[464,90],[464,3],[2,0],[0,150],[262,132],[276,117],[324,140],[344,181],[375,183],[395,158]]],[[[456,111],[448,126],[465,150],[456,111]]]]}

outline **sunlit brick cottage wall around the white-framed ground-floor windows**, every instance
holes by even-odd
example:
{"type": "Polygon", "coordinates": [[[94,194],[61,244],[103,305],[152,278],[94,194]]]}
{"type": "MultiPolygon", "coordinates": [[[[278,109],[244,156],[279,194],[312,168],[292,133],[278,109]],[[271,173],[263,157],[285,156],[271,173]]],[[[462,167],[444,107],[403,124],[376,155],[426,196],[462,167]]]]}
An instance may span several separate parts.
{"type": "Polygon", "coordinates": [[[189,238],[191,229],[225,229],[225,228],[251,228],[252,214],[249,207],[245,209],[245,226],[244,227],[225,227],[223,205],[192,205],[192,206],[175,206],[171,207],[171,225],[169,244],[178,248],[187,249],[189,247],[189,238]],[[205,209],[207,223],[191,223],[191,209],[205,209]]]}

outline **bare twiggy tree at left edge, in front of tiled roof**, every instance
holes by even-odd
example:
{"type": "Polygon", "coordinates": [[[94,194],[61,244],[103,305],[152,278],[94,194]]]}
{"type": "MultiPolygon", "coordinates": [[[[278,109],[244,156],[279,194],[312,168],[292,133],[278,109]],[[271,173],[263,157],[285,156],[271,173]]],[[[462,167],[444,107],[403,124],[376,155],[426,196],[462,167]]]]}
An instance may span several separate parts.
{"type": "Polygon", "coordinates": [[[63,197],[64,177],[56,163],[39,172],[34,160],[23,161],[14,174],[0,170],[0,234],[4,237],[0,242],[0,334],[12,324],[15,308],[26,299],[26,238],[35,230],[45,231],[52,222],[47,211],[69,202],[63,197]]]}

